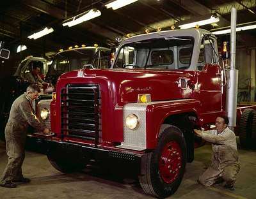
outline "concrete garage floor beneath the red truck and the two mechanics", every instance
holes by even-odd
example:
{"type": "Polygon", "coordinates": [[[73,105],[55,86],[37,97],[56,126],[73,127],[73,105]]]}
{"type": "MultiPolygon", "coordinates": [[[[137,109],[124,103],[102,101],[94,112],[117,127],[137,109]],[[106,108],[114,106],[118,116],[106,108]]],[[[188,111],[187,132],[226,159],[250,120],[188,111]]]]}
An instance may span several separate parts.
{"type": "MultiPolygon", "coordinates": [[[[195,150],[195,160],[188,163],[184,179],[177,192],[169,198],[256,198],[256,151],[239,150],[241,172],[236,190],[228,191],[220,185],[204,188],[196,179],[210,163],[211,145],[195,150]]],[[[0,173],[6,165],[5,145],[0,141],[0,173]]],[[[143,193],[136,177],[86,168],[83,172],[63,174],[55,170],[43,154],[26,151],[23,173],[29,184],[15,189],[0,188],[0,198],[152,198],[143,193]]],[[[127,173],[125,170],[123,173],[127,173]]],[[[129,172],[128,172],[129,173],[129,172]]]]}

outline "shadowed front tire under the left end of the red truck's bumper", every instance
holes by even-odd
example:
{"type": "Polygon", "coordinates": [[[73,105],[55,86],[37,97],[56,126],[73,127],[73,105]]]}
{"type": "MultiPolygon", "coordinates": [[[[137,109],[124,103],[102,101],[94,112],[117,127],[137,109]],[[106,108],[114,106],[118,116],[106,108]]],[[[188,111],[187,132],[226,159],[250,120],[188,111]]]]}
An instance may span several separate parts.
{"type": "Polygon", "coordinates": [[[79,172],[86,166],[86,163],[79,159],[57,157],[54,153],[48,153],[47,158],[51,165],[61,173],[79,172]]]}

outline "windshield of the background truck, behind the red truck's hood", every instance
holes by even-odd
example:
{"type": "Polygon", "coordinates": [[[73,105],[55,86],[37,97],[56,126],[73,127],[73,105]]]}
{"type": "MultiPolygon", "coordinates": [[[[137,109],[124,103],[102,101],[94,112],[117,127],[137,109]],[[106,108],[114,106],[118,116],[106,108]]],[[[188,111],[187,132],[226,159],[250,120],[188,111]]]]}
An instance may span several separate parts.
{"type": "Polygon", "coordinates": [[[54,57],[47,76],[61,75],[62,73],[83,68],[86,64],[92,64],[92,68],[109,68],[110,52],[108,50],[74,49],[61,52],[54,57]]]}

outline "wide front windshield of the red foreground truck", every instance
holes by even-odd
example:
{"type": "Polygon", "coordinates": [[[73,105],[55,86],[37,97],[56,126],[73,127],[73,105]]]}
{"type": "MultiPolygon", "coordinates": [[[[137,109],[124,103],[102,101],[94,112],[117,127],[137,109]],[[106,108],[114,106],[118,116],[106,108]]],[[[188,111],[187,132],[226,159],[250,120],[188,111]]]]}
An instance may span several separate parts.
{"type": "Polygon", "coordinates": [[[128,43],[119,50],[113,68],[188,69],[193,45],[194,39],[185,36],[128,43]]]}

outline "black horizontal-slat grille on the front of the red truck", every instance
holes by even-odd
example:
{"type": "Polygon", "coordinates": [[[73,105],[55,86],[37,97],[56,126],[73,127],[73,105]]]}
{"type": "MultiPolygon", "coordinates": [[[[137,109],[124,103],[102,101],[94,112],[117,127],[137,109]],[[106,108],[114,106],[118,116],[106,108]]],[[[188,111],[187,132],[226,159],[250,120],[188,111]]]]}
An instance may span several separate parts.
{"type": "Polygon", "coordinates": [[[61,131],[63,135],[99,139],[100,98],[97,84],[68,84],[61,90],[61,131]]]}

